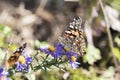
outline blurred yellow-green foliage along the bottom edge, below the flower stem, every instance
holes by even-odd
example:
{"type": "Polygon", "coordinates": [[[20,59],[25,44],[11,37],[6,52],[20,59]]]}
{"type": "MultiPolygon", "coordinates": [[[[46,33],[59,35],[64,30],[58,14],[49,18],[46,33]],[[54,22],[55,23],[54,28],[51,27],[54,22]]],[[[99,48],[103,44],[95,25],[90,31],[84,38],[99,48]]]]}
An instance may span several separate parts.
{"type": "Polygon", "coordinates": [[[79,68],[77,70],[67,69],[68,71],[62,72],[56,68],[53,71],[49,71],[48,74],[42,72],[39,80],[110,80],[114,75],[114,68],[109,67],[102,74],[102,70],[99,71],[97,68],[89,67],[89,70],[79,68]],[[99,76],[98,76],[99,75],[99,76]],[[63,78],[64,76],[64,78],[63,78]]]}

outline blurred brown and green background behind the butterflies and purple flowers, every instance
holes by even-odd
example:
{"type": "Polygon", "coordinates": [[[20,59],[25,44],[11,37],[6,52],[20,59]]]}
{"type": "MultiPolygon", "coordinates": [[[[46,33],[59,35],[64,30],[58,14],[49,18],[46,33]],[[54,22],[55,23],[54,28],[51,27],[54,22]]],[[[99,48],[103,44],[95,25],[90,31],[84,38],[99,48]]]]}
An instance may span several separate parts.
{"type": "Polygon", "coordinates": [[[120,0],[0,0],[0,53],[9,44],[12,52],[27,42],[31,53],[42,42],[54,44],[76,16],[86,39],[80,67],[54,67],[47,77],[37,71],[13,80],[120,80],[120,0]]]}

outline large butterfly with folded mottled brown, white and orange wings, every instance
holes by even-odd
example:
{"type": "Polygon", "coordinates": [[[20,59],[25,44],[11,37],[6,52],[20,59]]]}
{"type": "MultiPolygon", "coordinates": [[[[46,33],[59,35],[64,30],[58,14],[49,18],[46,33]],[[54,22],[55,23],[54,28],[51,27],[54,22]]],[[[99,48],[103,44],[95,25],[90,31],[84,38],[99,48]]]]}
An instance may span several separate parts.
{"type": "Polygon", "coordinates": [[[58,39],[66,49],[70,49],[79,55],[83,55],[86,48],[81,24],[82,20],[80,17],[74,18],[73,21],[69,23],[65,33],[58,39]]]}

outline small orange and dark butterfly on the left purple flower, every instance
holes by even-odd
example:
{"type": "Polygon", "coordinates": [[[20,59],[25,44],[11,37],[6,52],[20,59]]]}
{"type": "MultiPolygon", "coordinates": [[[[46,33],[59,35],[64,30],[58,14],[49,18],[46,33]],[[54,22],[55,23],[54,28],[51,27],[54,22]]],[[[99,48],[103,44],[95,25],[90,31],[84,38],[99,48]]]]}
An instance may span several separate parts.
{"type": "Polygon", "coordinates": [[[19,47],[12,56],[7,60],[10,67],[14,66],[15,63],[18,61],[19,57],[21,56],[23,50],[26,48],[26,43],[23,46],[19,47]]]}

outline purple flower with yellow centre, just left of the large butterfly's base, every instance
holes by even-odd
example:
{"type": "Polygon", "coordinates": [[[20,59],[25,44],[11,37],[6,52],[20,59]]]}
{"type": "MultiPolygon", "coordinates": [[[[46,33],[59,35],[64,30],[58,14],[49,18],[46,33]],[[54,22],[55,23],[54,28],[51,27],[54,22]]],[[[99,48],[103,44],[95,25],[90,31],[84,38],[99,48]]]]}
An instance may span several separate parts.
{"type": "Polygon", "coordinates": [[[64,46],[62,44],[59,44],[59,43],[55,44],[54,46],[50,46],[48,48],[45,48],[45,49],[40,48],[40,51],[51,55],[55,59],[62,57],[63,50],[64,50],[64,46]]]}

